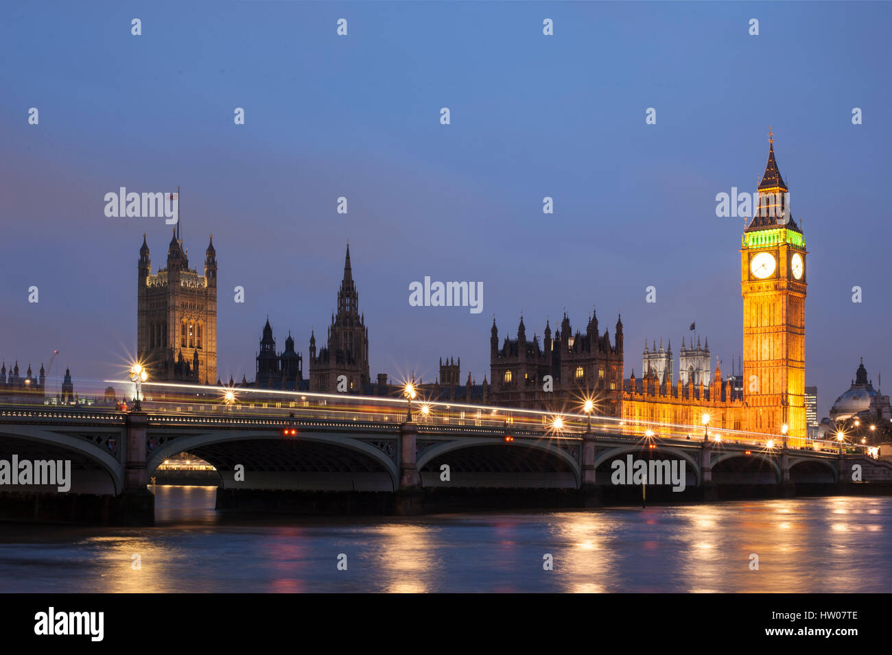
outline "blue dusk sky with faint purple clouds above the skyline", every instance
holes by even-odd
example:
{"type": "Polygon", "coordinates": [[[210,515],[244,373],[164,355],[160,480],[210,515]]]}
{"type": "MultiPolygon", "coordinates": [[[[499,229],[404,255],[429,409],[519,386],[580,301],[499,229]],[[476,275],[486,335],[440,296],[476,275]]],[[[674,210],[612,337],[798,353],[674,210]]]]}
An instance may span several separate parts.
{"type": "Polygon", "coordinates": [[[324,338],[348,239],[373,378],[433,381],[440,356],[460,356],[480,382],[493,314],[500,340],[521,312],[541,337],[565,307],[584,331],[592,306],[611,340],[622,311],[626,376],[645,339],[671,339],[677,357],[694,321],[731,373],[743,221],[716,217],[714,198],[755,191],[772,126],[809,250],[819,415],[859,357],[892,386],[892,4],[51,2],[0,15],[7,366],[59,349],[54,373],[121,375],[143,233],[157,270],[170,228],[105,217],[103,197],[180,186],[191,266],[209,233],[217,249],[223,380],[253,379],[267,315],[279,349],[289,330],[305,357],[310,328],[324,338]],[[483,282],[483,311],[409,307],[425,275],[483,282]]]}

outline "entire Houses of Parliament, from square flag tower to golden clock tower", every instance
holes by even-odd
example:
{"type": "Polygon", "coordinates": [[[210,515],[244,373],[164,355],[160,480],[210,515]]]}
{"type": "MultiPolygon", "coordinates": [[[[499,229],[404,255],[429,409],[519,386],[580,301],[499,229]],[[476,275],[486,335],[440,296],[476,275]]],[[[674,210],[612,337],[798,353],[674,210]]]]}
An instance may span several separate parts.
{"type": "MultiPolygon", "coordinates": [[[[617,316],[614,332],[601,331],[594,311],[584,331],[574,332],[566,313],[554,334],[547,320],[543,339],[528,338],[521,317],[516,335],[500,340],[495,318],[490,333],[490,381],[478,384],[468,374],[460,381],[458,364],[440,359],[434,382],[419,385],[431,401],[529,407],[578,412],[580,399],[595,396],[596,412],[625,421],[698,425],[704,413],[710,427],[805,439],[805,237],[794,221],[785,194],[787,184],[775,160],[773,136],[768,162],[758,186],[755,217],[741,236],[740,291],[743,299],[743,355],[739,382],[711,368],[708,341],[685,347],[675,374],[672,345],[662,341],[642,354],[645,368],[624,377],[624,327],[617,316]]],[[[205,250],[203,275],[189,268],[178,232],[167,253],[167,267],[152,273],[145,235],[138,260],[137,353],[153,380],[213,384],[217,379],[217,259],[213,242],[205,250]]],[[[277,353],[268,320],[261,330],[253,382],[262,389],[365,395],[401,394],[386,374],[369,375],[368,327],[359,310],[348,245],[336,309],[317,346],[310,333],[309,377],[288,335],[277,353]],[[345,385],[345,386],[341,386],[345,385]]]]}

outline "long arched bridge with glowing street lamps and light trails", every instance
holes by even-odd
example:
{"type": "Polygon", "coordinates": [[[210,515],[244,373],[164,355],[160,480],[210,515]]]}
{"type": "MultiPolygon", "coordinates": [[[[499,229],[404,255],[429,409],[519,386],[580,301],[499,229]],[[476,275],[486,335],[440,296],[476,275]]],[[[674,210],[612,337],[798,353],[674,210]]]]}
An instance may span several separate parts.
{"type": "MultiPolygon", "coordinates": [[[[865,482],[892,481],[892,463],[843,441],[794,445],[782,435],[703,425],[386,397],[240,389],[248,397],[236,399],[213,388],[221,400],[207,387],[156,386],[141,411],[0,406],[0,460],[70,460],[69,495],[103,496],[103,512],[130,512],[136,522],[149,521],[154,471],[183,452],[218,471],[218,505],[226,507],[260,492],[359,494],[387,499],[376,504],[385,511],[414,513],[425,494],[467,499],[493,490],[526,490],[527,498],[562,490],[571,504],[599,504],[615,493],[615,463],[630,455],[676,462],[688,494],[707,499],[717,487],[789,495],[796,487],[839,485],[856,469],[865,482]],[[109,498],[123,499],[125,509],[114,510],[109,498]]],[[[0,494],[0,510],[12,497],[20,512],[62,495],[33,485],[0,487],[0,494]]]]}

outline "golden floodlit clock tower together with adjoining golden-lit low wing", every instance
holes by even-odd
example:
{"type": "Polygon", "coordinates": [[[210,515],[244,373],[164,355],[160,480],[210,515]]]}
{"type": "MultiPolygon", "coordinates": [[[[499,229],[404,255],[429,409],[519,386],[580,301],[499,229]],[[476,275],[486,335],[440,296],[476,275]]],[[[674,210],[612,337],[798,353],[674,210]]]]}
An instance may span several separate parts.
{"type": "Polygon", "coordinates": [[[802,230],[789,212],[788,192],[770,135],[755,217],[740,247],[742,393],[722,380],[717,364],[710,381],[708,364],[696,367],[701,372],[697,380],[684,379],[690,366],[682,362],[674,386],[653,371],[641,381],[632,377],[623,396],[624,419],[697,425],[709,413],[714,429],[776,435],[787,424],[790,438],[805,439],[806,251],[802,230]]]}

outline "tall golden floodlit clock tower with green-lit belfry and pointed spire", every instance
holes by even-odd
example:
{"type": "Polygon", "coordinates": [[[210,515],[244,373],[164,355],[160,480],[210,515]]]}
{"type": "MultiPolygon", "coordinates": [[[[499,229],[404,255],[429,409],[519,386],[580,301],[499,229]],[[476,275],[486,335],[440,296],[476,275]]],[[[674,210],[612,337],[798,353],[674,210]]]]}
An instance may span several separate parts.
{"type": "Polygon", "coordinates": [[[805,236],[789,211],[789,189],[774,160],[759,184],[740,247],[745,430],[805,439],[805,236]]]}

